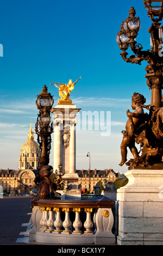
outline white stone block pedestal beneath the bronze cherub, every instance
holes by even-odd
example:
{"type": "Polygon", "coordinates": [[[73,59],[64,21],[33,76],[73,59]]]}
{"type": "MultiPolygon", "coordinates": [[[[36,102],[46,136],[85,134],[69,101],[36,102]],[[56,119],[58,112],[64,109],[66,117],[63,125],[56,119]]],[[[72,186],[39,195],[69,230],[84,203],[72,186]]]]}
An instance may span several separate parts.
{"type": "Polygon", "coordinates": [[[163,245],[163,169],[133,169],[117,190],[118,245],[163,245]]]}

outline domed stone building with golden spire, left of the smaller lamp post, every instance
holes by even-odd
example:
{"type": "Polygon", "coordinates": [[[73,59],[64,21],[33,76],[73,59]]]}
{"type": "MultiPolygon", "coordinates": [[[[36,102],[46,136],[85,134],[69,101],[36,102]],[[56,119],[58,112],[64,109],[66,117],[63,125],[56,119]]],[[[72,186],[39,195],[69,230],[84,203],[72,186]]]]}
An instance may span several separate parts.
{"type": "Polygon", "coordinates": [[[26,141],[20,152],[18,169],[0,169],[0,186],[3,192],[11,196],[22,195],[24,191],[31,193],[35,188],[35,176],[40,157],[39,145],[34,141],[32,124],[26,141]]]}

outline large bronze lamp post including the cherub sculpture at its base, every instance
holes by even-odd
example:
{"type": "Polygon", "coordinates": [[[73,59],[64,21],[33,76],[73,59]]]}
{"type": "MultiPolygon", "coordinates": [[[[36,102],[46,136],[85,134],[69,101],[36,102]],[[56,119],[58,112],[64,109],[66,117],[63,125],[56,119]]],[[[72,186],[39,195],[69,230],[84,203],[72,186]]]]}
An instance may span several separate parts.
{"type": "Polygon", "coordinates": [[[143,0],[148,16],[151,17],[152,25],[148,29],[151,34],[151,49],[143,51],[141,44],[137,44],[136,37],[140,31],[141,23],[139,17],[135,17],[134,7],[129,10],[129,16],[122,22],[121,30],[117,33],[116,41],[122,56],[127,63],[141,65],[146,60],[147,85],[151,89],[151,105],[145,106],[145,97],[139,93],[134,93],[132,97],[132,108],[135,112],[127,111],[129,117],[126,131],[123,132],[121,143],[122,166],[127,161],[127,147],[129,147],[134,159],[130,159],[126,164],[129,168],[137,166],[162,168],[163,161],[163,54],[162,54],[162,26],[160,21],[163,17],[163,0],[143,0]],[[130,47],[133,55],[127,57],[127,50],[130,47]],[[149,115],[144,114],[143,107],[149,109],[149,115]],[[139,108],[139,110],[138,110],[139,108]],[[137,125],[139,123],[139,125],[137,125]],[[142,155],[139,156],[134,142],[141,145],[142,155]],[[161,160],[162,159],[162,160],[161,160]]]}

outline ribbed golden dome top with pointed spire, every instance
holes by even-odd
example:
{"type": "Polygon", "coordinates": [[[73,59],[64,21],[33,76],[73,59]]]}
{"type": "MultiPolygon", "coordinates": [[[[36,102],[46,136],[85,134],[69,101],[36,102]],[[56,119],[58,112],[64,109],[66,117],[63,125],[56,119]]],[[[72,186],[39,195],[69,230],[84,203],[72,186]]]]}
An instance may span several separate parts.
{"type": "Polygon", "coordinates": [[[32,131],[32,123],[30,123],[30,131],[28,131],[28,141],[26,141],[21,151],[40,151],[39,145],[34,141],[34,132],[32,131]]]}

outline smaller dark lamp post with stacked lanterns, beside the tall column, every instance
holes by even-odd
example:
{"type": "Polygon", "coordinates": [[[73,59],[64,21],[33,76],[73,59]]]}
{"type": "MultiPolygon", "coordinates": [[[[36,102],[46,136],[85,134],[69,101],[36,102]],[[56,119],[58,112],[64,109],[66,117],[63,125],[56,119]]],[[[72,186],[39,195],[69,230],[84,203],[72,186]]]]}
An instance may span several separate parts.
{"type": "Polygon", "coordinates": [[[37,134],[37,142],[40,145],[41,156],[39,159],[39,167],[48,165],[49,154],[51,150],[51,133],[53,132],[53,127],[51,124],[51,108],[53,106],[54,100],[53,96],[47,92],[46,85],[42,88],[42,93],[37,95],[36,106],[39,109],[39,114],[35,124],[35,132],[37,134]],[[41,139],[40,139],[41,138],[41,139]]]}

